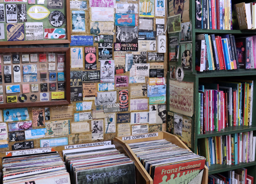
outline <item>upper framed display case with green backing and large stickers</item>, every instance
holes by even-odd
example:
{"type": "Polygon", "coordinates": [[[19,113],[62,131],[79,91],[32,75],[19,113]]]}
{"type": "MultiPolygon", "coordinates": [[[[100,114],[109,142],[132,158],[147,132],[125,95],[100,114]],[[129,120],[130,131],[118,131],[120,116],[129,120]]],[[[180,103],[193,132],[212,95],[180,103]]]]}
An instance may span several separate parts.
{"type": "Polygon", "coordinates": [[[70,24],[68,0],[0,3],[0,45],[68,44],[70,24]]]}

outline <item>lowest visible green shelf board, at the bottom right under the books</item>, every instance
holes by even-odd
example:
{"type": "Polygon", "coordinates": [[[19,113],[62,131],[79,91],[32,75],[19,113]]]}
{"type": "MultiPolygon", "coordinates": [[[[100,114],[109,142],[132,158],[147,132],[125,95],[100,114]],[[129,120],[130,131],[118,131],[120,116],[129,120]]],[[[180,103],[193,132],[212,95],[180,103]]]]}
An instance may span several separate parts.
{"type": "Polygon", "coordinates": [[[246,167],[254,166],[254,165],[256,165],[256,161],[248,162],[248,163],[242,162],[242,163],[237,164],[237,165],[213,164],[213,165],[209,166],[209,174],[216,174],[216,173],[226,172],[226,171],[229,171],[229,170],[246,168],[246,167]]]}

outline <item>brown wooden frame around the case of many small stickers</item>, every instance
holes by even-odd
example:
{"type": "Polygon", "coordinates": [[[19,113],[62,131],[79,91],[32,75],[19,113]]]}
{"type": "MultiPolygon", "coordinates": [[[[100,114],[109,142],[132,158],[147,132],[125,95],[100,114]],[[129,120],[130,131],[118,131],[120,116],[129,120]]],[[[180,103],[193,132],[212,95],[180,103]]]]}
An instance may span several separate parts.
{"type": "MultiPolygon", "coordinates": [[[[8,54],[13,54],[13,53],[19,53],[19,54],[28,54],[28,53],[58,53],[58,54],[65,54],[65,62],[64,62],[64,83],[65,83],[65,100],[51,100],[51,101],[40,101],[40,96],[38,97],[38,100],[35,102],[31,102],[29,100],[29,97],[27,99],[26,102],[14,102],[14,103],[4,103],[4,104],[0,104],[0,109],[3,108],[22,108],[22,107],[28,107],[28,106],[49,106],[49,105],[67,105],[67,104],[71,104],[71,88],[70,88],[70,48],[6,48],[6,49],[0,49],[0,54],[3,55],[5,53],[8,54]],[[18,52],[17,52],[18,51],[18,52]]],[[[0,57],[1,57],[0,55],[0,57]]],[[[55,55],[56,56],[56,55],[55,55]]],[[[21,60],[21,59],[20,59],[21,60]]],[[[57,61],[55,61],[57,63],[57,61]]],[[[22,61],[20,61],[20,64],[23,64],[22,61]]],[[[40,65],[40,62],[38,63],[34,63],[34,62],[30,62],[30,63],[25,63],[26,64],[36,64],[36,65],[40,65]]],[[[1,63],[2,68],[3,68],[3,62],[1,63]]],[[[13,63],[11,63],[11,66],[13,65],[13,63]]],[[[9,65],[10,66],[10,65],[9,65]]],[[[56,65],[57,66],[57,65],[56,65]]],[[[21,68],[21,67],[20,67],[21,68]]],[[[48,70],[47,70],[48,72],[48,70]]],[[[49,72],[48,72],[49,73],[49,72]]],[[[2,74],[3,74],[3,70],[2,70],[2,74]]],[[[42,83],[42,81],[39,79],[39,74],[40,74],[40,70],[37,71],[37,75],[38,75],[38,81],[36,83],[42,83]]],[[[23,75],[23,71],[20,72],[20,76],[23,75]]],[[[31,84],[33,82],[22,82],[21,83],[4,83],[4,75],[2,75],[3,78],[3,83],[0,85],[13,85],[13,84],[20,84],[20,93],[14,93],[14,95],[17,95],[17,99],[18,99],[18,95],[22,94],[22,84],[31,84]]],[[[13,78],[13,74],[11,76],[11,78],[13,78]]],[[[56,78],[57,78],[57,71],[56,71],[56,78]]],[[[23,79],[23,78],[22,78],[23,79]]],[[[56,79],[56,84],[58,83],[58,80],[56,79]]],[[[34,82],[35,83],[35,82],[34,82]]],[[[49,83],[49,82],[48,82],[49,83]]],[[[5,87],[3,87],[5,88],[5,87]]],[[[31,89],[31,87],[30,87],[31,89]]],[[[49,96],[51,96],[51,91],[49,91],[49,88],[47,89],[49,92],[49,96]]],[[[57,91],[57,90],[56,90],[57,91]]],[[[3,89],[3,93],[5,94],[6,89],[3,89]]],[[[30,92],[32,93],[32,92],[30,92]]],[[[38,93],[40,92],[40,89],[38,91],[38,93]]],[[[4,100],[6,100],[7,95],[5,95],[4,100]]]]}

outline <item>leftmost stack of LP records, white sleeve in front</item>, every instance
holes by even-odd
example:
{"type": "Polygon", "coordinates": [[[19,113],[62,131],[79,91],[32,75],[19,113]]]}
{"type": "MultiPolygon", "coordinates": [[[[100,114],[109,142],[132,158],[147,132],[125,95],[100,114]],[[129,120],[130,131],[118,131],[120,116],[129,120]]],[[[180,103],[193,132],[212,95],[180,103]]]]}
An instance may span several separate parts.
{"type": "Polygon", "coordinates": [[[70,184],[70,178],[55,151],[3,157],[3,183],[70,184]]]}

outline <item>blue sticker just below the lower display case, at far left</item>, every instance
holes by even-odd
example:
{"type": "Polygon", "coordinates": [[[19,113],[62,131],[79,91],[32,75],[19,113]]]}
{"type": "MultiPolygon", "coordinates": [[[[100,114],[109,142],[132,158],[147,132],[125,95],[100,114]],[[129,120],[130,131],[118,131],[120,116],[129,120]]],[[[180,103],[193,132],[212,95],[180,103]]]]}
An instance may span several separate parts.
{"type": "Polygon", "coordinates": [[[30,120],[27,108],[4,109],[3,119],[5,122],[30,120]]]}

